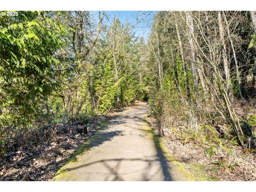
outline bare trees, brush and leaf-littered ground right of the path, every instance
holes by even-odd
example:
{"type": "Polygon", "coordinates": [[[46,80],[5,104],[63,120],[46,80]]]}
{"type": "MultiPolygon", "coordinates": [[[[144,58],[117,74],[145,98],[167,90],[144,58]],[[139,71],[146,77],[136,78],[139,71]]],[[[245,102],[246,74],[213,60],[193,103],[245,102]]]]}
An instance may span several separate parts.
{"type": "Polygon", "coordinates": [[[255,21],[248,11],[155,17],[147,61],[153,125],[197,180],[256,179],[255,21]]]}

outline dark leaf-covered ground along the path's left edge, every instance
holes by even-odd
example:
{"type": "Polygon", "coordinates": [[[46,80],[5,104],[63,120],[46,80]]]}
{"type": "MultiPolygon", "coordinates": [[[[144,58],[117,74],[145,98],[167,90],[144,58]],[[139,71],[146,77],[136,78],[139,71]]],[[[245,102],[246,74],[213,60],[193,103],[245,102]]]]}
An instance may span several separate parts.
{"type": "Polygon", "coordinates": [[[83,145],[106,121],[115,115],[91,119],[86,125],[60,125],[51,141],[16,148],[7,146],[0,159],[0,181],[50,181],[71,155],[83,145]],[[86,126],[88,133],[78,133],[86,126]]]}

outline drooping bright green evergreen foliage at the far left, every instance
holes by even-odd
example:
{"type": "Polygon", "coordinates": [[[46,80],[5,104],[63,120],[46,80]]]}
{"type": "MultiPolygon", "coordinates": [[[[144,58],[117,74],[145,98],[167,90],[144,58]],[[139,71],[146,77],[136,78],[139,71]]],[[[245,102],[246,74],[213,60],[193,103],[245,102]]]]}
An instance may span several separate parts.
{"type": "Polygon", "coordinates": [[[55,54],[66,29],[47,12],[0,16],[0,126],[31,125],[55,86],[55,54]],[[54,28],[54,30],[50,30],[54,28]]]}

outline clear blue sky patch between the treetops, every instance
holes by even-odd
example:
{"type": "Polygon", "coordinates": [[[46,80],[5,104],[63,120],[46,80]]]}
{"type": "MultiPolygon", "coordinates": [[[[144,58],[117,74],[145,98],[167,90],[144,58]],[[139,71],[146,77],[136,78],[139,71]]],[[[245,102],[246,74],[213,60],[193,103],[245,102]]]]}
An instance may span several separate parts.
{"type": "MultiPolygon", "coordinates": [[[[92,11],[93,15],[98,18],[98,11],[92,11]]],[[[135,25],[135,36],[148,38],[151,26],[153,24],[155,11],[105,11],[107,17],[105,18],[105,23],[111,25],[113,18],[119,18],[122,24],[126,23],[126,20],[135,25]],[[139,23],[138,23],[139,22],[139,23]]]]}

